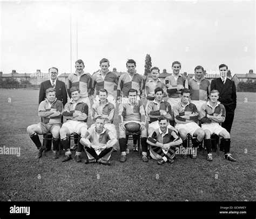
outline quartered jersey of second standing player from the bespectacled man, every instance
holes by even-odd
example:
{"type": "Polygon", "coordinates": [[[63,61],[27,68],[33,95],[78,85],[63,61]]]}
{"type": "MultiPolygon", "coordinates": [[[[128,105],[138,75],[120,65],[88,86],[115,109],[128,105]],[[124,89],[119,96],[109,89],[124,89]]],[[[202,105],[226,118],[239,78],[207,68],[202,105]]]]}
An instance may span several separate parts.
{"type": "Polygon", "coordinates": [[[118,76],[113,72],[108,72],[104,78],[100,71],[96,72],[92,75],[92,80],[96,95],[99,95],[99,90],[102,88],[107,90],[107,95],[113,95],[114,85],[118,84],[118,76]]]}

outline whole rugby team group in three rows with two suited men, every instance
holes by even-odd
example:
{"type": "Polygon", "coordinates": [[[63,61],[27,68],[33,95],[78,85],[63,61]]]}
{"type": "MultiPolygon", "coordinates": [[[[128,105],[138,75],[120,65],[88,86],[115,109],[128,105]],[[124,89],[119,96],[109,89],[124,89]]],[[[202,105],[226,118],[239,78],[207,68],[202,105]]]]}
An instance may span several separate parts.
{"type": "Polygon", "coordinates": [[[127,60],[127,72],[120,76],[109,70],[110,62],[105,58],[99,66],[100,70],[90,75],[84,72],[84,62],[77,60],[76,72],[69,75],[66,85],[58,80],[56,67],[49,69],[50,80],[42,82],[39,91],[41,123],[27,128],[38,149],[37,159],[43,151],[51,150],[52,143],[53,159],[64,150],[62,161],[69,161],[71,150],[76,150],[78,163],[85,151],[85,164],[111,165],[111,153],[118,151],[115,145],[119,142],[120,162],[124,163],[129,153],[127,136],[137,133],[140,143],[133,139],[133,151],[138,151],[141,144],[143,162],[156,159],[158,165],[172,164],[178,147],[185,152],[184,158],[189,155],[192,159],[203,147],[207,160],[212,161],[212,134],[220,137],[219,150],[224,152],[224,159],[237,161],[230,153],[237,95],[234,82],[227,78],[226,65],[219,66],[220,77],[211,82],[205,78],[202,66],[196,66],[194,76],[187,80],[180,74],[179,61],[172,63],[173,74],[164,82],[159,79],[158,67],[152,67],[151,77],[145,80],[136,72],[132,59],[127,60]],[[117,106],[119,135],[113,124],[117,106]],[[88,117],[93,121],[90,127],[88,117]],[[45,147],[38,135],[46,133],[51,133],[52,141],[48,140],[45,147]],[[70,147],[69,136],[74,134],[79,137],[70,147]],[[192,147],[187,144],[188,134],[192,147]]]}

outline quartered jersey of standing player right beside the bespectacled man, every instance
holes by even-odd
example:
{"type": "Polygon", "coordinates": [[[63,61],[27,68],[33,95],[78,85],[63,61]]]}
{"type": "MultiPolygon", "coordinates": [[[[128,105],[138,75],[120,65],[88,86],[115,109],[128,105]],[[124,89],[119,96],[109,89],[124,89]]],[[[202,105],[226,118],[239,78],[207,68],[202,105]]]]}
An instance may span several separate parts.
{"type": "Polygon", "coordinates": [[[71,94],[69,89],[71,87],[78,87],[80,90],[80,97],[88,97],[89,95],[94,94],[94,88],[92,87],[93,81],[92,76],[89,73],[84,73],[80,76],[80,79],[78,80],[77,72],[72,73],[68,77],[69,83],[68,83],[68,94],[71,98],[71,94]]]}

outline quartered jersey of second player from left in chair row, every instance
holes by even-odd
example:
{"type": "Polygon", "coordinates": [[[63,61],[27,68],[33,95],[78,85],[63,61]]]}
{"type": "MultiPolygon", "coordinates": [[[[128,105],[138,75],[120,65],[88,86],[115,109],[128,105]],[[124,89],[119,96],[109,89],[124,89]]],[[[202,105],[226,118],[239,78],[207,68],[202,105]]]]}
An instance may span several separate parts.
{"type": "Polygon", "coordinates": [[[64,111],[63,111],[63,117],[65,119],[72,119],[73,121],[79,121],[79,122],[87,122],[87,116],[88,116],[88,105],[84,103],[82,100],[79,100],[79,102],[76,104],[75,101],[71,99],[70,102],[65,104],[64,111]],[[82,115],[73,117],[73,114],[75,111],[82,112],[82,115]]]}

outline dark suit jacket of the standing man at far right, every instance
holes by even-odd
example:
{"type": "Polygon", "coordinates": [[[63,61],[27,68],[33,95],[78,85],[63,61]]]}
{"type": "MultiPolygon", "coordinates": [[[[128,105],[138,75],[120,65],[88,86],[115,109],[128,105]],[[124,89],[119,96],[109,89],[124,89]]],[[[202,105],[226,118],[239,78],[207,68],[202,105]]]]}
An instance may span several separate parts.
{"type": "Polygon", "coordinates": [[[226,79],[225,84],[220,79],[214,79],[211,82],[211,90],[219,91],[218,101],[224,105],[226,111],[234,112],[237,107],[237,89],[235,88],[234,81],[226,79]]]}

